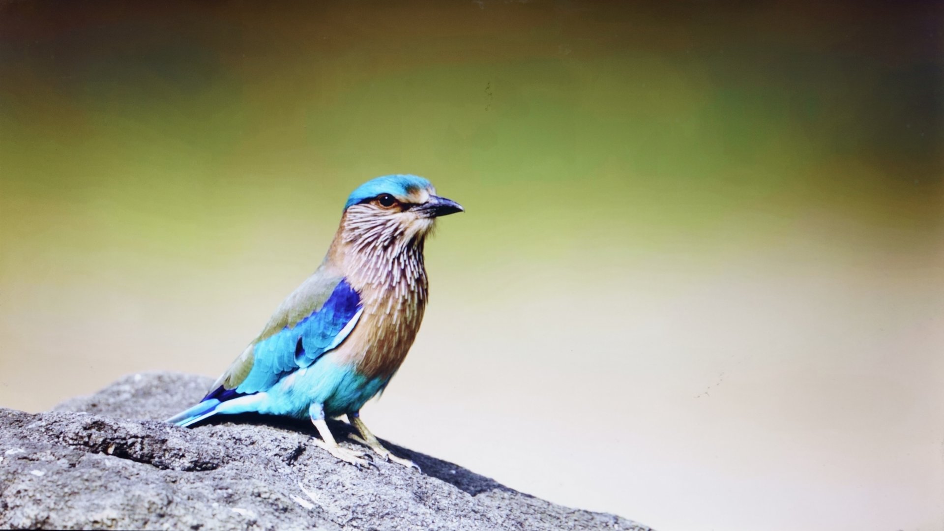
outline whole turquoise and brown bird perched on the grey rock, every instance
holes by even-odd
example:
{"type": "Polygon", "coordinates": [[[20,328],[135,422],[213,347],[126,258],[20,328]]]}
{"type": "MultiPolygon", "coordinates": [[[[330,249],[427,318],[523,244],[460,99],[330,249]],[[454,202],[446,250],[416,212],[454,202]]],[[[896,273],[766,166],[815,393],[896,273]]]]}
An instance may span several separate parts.
{"type": "Polygon", "coordinates": [[[390,383],[413,345],[429,282],[423,248],[436,218],[464,212],[429,180],[387,175],[358,186],[321,265],[279,306],[245,350],[193,407],[167,419],[190,426],[213,415],[256,412],[308,418],[338,459],[372,457],[338,445],[327,420],[346,416],[349,437],[387,461],[392,454],[361,419],[361,408],[390,383]]]}

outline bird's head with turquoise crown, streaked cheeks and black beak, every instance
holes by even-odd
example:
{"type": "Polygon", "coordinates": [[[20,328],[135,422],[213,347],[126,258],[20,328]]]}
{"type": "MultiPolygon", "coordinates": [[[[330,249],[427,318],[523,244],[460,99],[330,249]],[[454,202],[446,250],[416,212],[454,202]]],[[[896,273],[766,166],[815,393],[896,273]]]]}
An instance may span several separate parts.
{"type": "Polygon", "coordinates": [[[415,175],[387,175],[368,180],[347,197],[342,229],[369,243],[422,240],[441,215],[463,212],[459,203],[436,195],[429,180],[415,175]]]}

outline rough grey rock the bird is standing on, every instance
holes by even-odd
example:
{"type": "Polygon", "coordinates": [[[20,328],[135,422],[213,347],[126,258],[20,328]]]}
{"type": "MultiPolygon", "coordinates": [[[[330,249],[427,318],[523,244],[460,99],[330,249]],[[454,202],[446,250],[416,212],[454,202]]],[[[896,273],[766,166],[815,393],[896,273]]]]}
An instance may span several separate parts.
{"type": "Polygon", "coordinates": [[[649,529],[396,446],[423,471],[377,460],[359,470],[311,444],[306,422],[160,421],[210,383],[136,374],[53,412],[0,409],[0,528],[649,529]]]}

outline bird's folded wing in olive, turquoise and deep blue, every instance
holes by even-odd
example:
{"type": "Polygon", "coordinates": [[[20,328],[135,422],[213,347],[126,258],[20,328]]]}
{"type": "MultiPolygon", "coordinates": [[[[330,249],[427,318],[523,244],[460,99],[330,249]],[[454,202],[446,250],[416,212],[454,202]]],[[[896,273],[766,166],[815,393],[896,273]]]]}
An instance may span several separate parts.
{"type": "Polygon", "coordinates": [[[237,393],[264,391],[284,375],[312,365],[345,340],[361,310],[361,296],[344,277],[315,271],[282,302],[207,398],[227,400],[237,393]]]}

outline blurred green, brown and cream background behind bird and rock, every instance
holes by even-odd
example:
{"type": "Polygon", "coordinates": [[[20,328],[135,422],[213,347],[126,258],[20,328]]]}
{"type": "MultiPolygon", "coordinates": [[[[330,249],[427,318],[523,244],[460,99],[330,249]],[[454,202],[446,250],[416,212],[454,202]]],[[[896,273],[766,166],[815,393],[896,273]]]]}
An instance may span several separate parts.
{"type": "Polygon", "coordinates": [[[660,530],[940,529],[944,12],[827,4],[0,3],[0,405],[218,375],[408,172],[467,212],[380,437],[660,530]]]}

